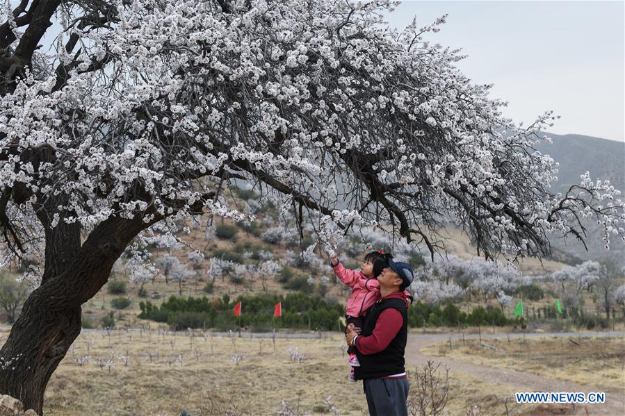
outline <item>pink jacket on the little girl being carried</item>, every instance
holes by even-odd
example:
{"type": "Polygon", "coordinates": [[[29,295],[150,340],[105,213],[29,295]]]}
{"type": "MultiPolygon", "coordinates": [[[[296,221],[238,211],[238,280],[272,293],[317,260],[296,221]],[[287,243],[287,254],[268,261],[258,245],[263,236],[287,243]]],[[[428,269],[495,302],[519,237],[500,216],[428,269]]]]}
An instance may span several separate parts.
{"type": "Polygon", "coordinates": [[[346,269],[341,262],[332,269],[341,282],[352,288],[352,294],[347,299],[346,315],[362,316],[369,306],[380,300],[380,282],[375,278],[368,278],[361,272],[346,269]]]}

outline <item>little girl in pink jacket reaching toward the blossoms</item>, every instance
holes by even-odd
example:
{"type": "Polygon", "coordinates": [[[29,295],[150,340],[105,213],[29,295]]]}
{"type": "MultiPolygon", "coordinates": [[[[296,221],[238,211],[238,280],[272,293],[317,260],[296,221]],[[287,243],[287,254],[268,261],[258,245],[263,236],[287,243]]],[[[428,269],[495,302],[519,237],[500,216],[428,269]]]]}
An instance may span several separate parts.
{"type": "MultiPolygon", "coordinates": [[[[354,326],[362,328],[366,310],[372,306],[373,303],[380,300],[380,283],[375,277],[382,273],[384,267],[387,267],[387,258],[392,258],[392,256],[388,253],[382,254],[382,250],[380,250],[380,252],[371,251],[371,253],[364,256],[360,271],[358,272],[343,267],[343,264],[339,262],[339,258],[336,257],[336,254],[332,257],[330,263],[332,269],[334,269],[334,274],[336,274],[339,280],[352,288],[352,293],[347,300],[345,315],[348,326],[349,324],[353,324],[354,326]]],[[[354,347],[350,347],[348,353],[350,354],[348,363],[352,366],[348,379],[350,381],[356,381],[353,367],[358,367],[360,363],[356,357],[354,347]]]]}

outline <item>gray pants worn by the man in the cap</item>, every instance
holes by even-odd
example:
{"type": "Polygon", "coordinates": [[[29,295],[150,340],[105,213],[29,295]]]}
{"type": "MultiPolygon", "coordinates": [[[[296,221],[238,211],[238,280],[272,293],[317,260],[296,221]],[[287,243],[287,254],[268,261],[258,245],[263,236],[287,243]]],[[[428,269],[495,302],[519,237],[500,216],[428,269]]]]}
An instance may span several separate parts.
{"type": "Polygon", "coordinates": [[[371,416],[408,415],[408,378],[366,378],[364,394],[371,416]]]}

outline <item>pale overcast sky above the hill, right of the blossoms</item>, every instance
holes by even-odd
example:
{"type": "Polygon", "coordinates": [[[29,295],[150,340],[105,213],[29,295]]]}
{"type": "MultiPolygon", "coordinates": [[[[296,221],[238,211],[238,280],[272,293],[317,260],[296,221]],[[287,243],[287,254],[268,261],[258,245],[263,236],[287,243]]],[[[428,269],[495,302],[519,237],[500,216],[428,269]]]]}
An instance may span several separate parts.
{"type": "Polygon", "coordinates": [[[448,13],[430,42],[462,47],[457,63],[476,83],[493,83],[504,114],[533,122],[554,110],[550,130],[625,141],[625,2],[403,1],[389,22],[419,26],[448,13]]]}

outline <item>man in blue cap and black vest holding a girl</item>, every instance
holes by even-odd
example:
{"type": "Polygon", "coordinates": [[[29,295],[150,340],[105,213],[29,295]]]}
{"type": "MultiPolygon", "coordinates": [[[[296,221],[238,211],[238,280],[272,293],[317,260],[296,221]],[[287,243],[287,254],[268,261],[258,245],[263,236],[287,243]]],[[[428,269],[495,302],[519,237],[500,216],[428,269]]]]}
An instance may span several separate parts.
{"type": "Polygon", "coordinates": [[[407,299],[404,294],[414,278],[408,263],[388,260],[378,281],[381,299],[368,310],[362,330],[350,326],[348,345],[354,346],[371,416],[407,416],[408,379],[404,351],[408,335],[407,299]]]}

